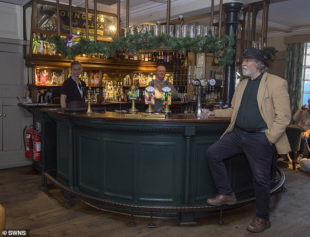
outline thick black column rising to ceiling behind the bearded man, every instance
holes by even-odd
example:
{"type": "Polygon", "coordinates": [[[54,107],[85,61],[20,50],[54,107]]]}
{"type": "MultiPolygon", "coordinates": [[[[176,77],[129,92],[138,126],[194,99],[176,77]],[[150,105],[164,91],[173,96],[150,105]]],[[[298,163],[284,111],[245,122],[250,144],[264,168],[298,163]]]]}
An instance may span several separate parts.
{"type": "MultiPolygon", "coordinates": [[[[234,50],[236,49],[236,34],[239,24],[238,13],[241,11],[242,6],[243,3],[238,1],[227,2],[223,4],[223,10],[226,14],[225,34],[228,36],[234,35],[234,44],[232,46],[234,50]]],[[[234,53],[232,57],[233,63],[226,65],[224,74],[225,83],[223,99],[225,99],[229,105],[231,105],[232,95],[234,93],[236,53],[234,53]]]]}

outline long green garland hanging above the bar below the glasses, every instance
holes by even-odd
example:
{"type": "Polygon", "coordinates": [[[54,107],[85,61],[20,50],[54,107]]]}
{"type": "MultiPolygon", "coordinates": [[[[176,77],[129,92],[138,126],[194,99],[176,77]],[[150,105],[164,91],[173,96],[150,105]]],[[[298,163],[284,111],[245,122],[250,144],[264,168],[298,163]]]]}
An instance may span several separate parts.
{"type": "Polygon", "coordinates": [[[74,42],[71,47],[67,46],[66,40],[59,36],[54,36],[52,42],[63,57],[73,60],[77,55],[101,54],[105,57],[114,57],[119,53],[135,53],[137,50],[154,50],[160,46],[171,47],[180,54],[188,52],[214,53],[218,57],[220,67],[233,63],[232,57],[235,53],[233,48],[233,35],[222,36],[220,39],[212,35],[197,36],[195,38],[177,38],[167,34],[155,36],[154,31],[144,34],[130,34],[127,37],[115,38],[113,42],[95,42],[91,39],[81,38],[74,42]]]}

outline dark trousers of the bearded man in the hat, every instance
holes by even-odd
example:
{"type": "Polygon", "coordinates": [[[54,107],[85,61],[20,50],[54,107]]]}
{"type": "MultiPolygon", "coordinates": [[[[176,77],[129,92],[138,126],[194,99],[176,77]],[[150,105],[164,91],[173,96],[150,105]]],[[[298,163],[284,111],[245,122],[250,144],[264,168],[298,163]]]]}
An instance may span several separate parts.
{"type": "Polygon", "coordinates": [[[256,216],[269,219],[270,173],[274,145],[264,132],[247,133],[233,128],[207,150],[207,159],[218,193],[229,194],[232,187],[223,160],[244,153],[252,170],[256,216]]]}

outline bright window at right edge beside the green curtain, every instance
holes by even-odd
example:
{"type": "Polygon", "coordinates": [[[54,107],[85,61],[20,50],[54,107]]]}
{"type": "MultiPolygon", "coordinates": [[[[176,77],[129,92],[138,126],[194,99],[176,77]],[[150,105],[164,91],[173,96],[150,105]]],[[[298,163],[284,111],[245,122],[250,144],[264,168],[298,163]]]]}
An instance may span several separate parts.
{"type": "Polygon", "coordinates": [[[308,105],[308,99],[310,99],[310,42],[305,45],[302,79],[302,105],[308,105]]]}

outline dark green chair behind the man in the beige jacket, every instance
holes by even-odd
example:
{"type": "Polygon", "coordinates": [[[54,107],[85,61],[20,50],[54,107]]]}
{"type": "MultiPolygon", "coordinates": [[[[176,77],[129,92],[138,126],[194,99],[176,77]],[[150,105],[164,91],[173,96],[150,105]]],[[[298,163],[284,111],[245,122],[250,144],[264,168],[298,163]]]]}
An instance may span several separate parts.
{"type": "MultiPolygon", "coordinates": [[[[296,169],[296,157],[297,157],[297,151],[299,151],[300,148],[300,140],[301,140],[301,133],[302,129],[293,127],[293,126],[288,126],[285,130],[286,135],[288,136],[289,143],[291,146],[291,152],[293,152],[293,157],[292,157],[292,165],[293,165],[293,170],[296,169]]],[[[290,158],[290,157],[289,157],[290,158]]]]}

